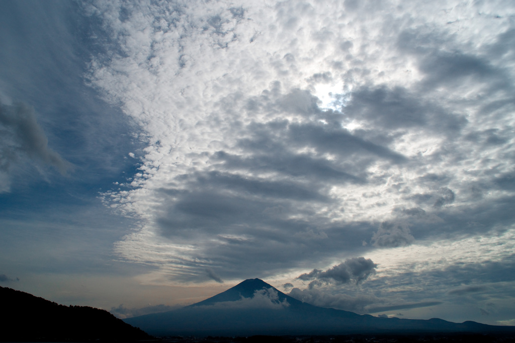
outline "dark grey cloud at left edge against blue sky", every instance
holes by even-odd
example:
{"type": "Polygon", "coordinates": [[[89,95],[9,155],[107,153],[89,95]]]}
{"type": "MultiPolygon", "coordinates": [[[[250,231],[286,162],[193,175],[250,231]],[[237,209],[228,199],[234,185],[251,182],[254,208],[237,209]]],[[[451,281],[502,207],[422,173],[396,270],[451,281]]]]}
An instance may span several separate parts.
{"type": "Polygon", "coordinates": [[[61,174],[70,164],[48,147],[48,139],[38,124],[33,108],[18,104],[0,104],[0,168],[9,170],[21,157],[54,166],[61,174]]]}

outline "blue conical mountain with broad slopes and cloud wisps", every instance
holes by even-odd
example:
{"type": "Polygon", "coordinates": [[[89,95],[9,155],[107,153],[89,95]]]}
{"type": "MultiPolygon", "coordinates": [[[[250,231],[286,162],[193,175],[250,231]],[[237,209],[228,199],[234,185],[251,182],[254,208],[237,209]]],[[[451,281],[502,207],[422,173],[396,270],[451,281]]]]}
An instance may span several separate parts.
{"type": "Polygon", "coordinates": [[[379,318],[294,299],[260,279],[178,310],[124,319],[157,336],[344,335],[362,333],[513,333],[473,321],[379,318]]]}

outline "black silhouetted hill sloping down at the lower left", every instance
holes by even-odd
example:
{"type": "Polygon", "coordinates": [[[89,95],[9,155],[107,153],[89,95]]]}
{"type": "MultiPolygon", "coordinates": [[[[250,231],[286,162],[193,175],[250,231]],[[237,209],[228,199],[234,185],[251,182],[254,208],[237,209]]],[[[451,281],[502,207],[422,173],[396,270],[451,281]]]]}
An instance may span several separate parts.
{"type": "Polygon", "coordinates": [[[136,341],[152,337],[107,311],[0,287],[0,341],[136,341]]]}

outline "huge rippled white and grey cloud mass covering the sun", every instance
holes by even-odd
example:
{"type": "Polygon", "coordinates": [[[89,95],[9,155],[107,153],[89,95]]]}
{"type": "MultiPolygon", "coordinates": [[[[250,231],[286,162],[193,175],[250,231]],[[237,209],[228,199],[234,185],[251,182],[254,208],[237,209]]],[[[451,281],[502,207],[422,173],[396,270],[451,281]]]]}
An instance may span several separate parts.
{"type": "Polygon", "coordinates": [[[84,6],[110,44],[90,83],[146,133],[132,188],[104,197],[141,219],[115,251],[159,266],[152,282],[367,250],[411,259],[442,232],[452,245],[506,229],[511,5],[84,6]],[[469,232],[470,220],[484,227],[469,232]]]}

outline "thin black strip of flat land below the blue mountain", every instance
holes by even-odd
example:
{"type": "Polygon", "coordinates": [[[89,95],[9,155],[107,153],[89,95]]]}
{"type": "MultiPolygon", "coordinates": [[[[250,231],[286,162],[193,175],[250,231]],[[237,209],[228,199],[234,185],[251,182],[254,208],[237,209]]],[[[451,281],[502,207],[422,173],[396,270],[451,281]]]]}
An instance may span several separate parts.
{"type": "Polygon", "coordinates": [[[251,336],[251,337],[168,337],[163,343],[511,343],[515,335],[507,334],[389,334],[342,336],[251,336]]]}

